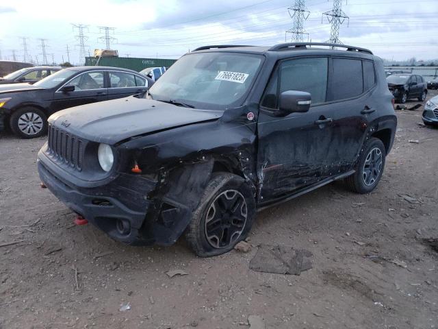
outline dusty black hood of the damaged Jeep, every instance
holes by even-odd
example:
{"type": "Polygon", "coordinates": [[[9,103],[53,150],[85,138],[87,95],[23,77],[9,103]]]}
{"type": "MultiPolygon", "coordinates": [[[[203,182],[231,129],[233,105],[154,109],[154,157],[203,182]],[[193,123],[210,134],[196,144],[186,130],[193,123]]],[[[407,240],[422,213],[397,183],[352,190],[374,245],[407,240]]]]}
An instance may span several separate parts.
{"type": "Polygon", "coordinates": [[[222,111],[126,97],[56,112],[49,118],[49,123],[89,141],[114,145],[140,134],[219,119],[222,114],[222,111]]]}

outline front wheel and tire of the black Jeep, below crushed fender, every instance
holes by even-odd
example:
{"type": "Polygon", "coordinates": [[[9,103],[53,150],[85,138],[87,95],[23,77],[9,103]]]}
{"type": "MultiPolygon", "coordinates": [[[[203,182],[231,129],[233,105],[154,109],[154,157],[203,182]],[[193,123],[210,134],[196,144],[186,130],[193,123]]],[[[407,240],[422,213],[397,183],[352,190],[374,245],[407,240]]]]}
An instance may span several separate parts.
{"type": "Polygon", "coordinates": [[[246,181],[232,173],[214,173],[185,237],[196,255],[218,256],[246,239],[254,219],[255,198],[246,181]]]}

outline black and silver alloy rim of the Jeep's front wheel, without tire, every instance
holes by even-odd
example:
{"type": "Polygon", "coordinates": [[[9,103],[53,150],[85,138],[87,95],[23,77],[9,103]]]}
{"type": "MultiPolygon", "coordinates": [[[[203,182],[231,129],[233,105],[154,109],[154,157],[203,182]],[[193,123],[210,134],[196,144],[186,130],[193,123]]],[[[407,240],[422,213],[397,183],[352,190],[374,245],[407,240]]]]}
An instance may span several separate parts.
{"type": "Polygon", "coordinates": [[[248,208],[242,193],[227,190],[211,202],[205,218],[205,236],[211,247],[221,249],[237,241],[245,228],[248,208]]]}

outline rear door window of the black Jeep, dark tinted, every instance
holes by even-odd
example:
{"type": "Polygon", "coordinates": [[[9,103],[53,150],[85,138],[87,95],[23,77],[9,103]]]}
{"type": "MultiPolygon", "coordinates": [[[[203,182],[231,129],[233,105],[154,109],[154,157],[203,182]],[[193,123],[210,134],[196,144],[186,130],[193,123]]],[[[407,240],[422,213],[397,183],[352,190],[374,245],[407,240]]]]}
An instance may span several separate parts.
{"type": "Polygon", "coordinates": [[[362,61],[333,58],[331,101],[357,97],[363,93],[362,61]]]}

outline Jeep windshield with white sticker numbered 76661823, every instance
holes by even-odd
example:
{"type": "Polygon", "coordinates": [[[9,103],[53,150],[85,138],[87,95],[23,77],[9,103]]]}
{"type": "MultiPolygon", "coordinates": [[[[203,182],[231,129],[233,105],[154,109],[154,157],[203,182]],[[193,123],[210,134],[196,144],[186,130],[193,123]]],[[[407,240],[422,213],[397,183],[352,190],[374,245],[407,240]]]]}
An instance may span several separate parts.
{"type": "Polygon", "coordinates": [[[192,53],[170,66],[149,95],[211,110],[240,106],[262,60],[248,53],[192,53]]]}

